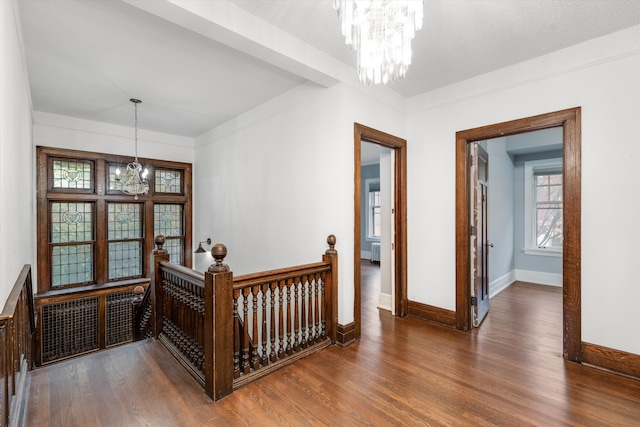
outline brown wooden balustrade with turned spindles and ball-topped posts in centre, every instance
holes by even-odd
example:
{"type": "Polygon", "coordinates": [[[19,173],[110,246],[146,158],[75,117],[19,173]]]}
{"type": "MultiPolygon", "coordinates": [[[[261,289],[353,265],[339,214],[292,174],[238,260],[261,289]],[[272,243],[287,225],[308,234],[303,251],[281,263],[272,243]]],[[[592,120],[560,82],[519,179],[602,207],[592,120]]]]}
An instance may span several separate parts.
{"type": "Polygon", "coordinates": [[[234,278],[224,245],[202,275],[171,264],[157,236],[149,291],[134,300],[135,339],[163,342],[213,400],[334,343],[338,254],[335,237],[327,242],[322,262],[234,278]]]}

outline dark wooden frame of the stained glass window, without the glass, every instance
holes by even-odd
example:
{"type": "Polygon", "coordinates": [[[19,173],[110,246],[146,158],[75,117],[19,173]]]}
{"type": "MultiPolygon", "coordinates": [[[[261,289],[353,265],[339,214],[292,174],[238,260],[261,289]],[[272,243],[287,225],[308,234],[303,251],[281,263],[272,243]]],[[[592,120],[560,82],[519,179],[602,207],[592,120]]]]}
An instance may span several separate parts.
{"type": "Polygon", "coordinates": [[[191,163],[140,158],[139,162],[151,172],[149,193],[139,195],[138,200],[119,190],[109,189],[109,166],[126,165],[131,156],[120,156],[89,151],[68,150],[55,147],[36,147],[36,210],[37,210],[37,291],[69,291],[70,288],[101,287],[132,279],[148,278],[151,275],[150,254],[154,249],[154,204],[180,204],[183,209],[182,260],[172,260],[191,267],[192,257],[192,165],[191,163]],[[91,162],[91,189],[53,188],[53,161],[91,162]],[[181,192],[156,193],[155,169],[175,170],[181,175],[181,192]],[[52,202],[93,203],[93,280],[91,282],[53,286],[52,284],[52,242],[50,204],[52,202]],[[109,279],[109,239],[107,233],[109,203],[139,203],[142,220],[142,274],[134,277],[109,279]]]}

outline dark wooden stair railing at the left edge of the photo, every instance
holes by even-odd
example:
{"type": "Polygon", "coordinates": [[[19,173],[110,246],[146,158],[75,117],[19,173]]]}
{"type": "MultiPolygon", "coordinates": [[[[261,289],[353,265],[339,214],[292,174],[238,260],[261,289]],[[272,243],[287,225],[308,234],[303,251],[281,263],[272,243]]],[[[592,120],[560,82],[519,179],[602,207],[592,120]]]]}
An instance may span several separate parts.
{"type": "Polygon", "coordinates": [[[35,307],[31,266],[25,265],[0,313],[0,426],[22,425],[34,366],[35,307]]]}

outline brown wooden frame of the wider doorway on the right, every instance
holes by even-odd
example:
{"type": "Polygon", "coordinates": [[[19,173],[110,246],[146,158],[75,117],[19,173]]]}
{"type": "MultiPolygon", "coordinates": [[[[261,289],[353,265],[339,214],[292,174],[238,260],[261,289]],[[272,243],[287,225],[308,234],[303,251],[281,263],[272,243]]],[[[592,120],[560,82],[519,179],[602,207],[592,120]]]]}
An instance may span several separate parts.
{"type": "Polygon", "coordinates": [[[471,280],[469,249],[469,144],[535,130],[562,127],[563,357],[581,362],[581,109],[580,107],[456,132],[456,328],[469,331],[471,280]]]}

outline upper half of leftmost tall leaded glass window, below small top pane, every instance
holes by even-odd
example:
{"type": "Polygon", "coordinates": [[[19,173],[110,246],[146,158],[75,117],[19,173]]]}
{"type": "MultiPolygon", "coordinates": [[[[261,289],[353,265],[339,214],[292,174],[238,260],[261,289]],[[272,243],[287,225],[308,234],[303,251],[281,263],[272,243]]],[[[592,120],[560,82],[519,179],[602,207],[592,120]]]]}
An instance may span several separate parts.
{"type": "Polygon", "coordinates": [[[51,242],[93,240],[93,203],[51,203],[51,242]]]}

